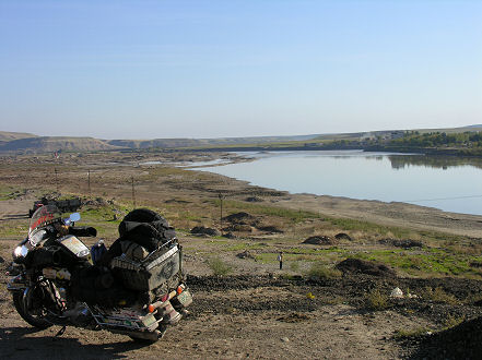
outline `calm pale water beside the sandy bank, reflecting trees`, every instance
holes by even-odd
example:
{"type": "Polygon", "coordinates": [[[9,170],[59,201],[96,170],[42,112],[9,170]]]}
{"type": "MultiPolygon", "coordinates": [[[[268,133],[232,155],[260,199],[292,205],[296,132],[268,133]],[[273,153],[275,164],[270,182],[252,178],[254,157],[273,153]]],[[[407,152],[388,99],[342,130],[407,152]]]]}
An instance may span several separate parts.
{"type": "Polygon", "coordinates": [[[336,152],[239,153],[256,160],[202,168],[291,193],[405,202],[482,215],[482,161],[336,152]]]}

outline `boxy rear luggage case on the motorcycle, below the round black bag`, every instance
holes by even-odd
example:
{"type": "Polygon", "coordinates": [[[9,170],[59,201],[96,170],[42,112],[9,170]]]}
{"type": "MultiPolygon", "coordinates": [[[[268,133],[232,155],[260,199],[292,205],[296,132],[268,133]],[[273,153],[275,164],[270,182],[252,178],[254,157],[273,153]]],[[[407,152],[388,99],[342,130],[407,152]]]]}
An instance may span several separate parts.
{"type": "Polygon", "coordinates": [[[176,276],[181,279],[181,247],[175,241],[168,241],[144,260],[133,260],[122,254],[114,257],[110,266],[126,288],[152,291],[176,276]]]}

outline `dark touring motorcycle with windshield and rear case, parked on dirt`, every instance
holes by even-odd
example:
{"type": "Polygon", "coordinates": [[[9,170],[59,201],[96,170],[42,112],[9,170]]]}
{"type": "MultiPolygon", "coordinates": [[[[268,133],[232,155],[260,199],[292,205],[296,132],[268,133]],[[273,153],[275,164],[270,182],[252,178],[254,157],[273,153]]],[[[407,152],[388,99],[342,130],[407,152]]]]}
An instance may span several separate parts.
{"type": "Polygon", "coordinates": [[[94,228],[74,226],[80,218],[74,213],[62,219],[55,205],[33,214],[28,236],[12,254],[8,290],[17,313],[40,329],[60,325],[59,334],[77,326],[158,340],[192,302],[176,237],[149,253],[142,248],[141,256],[126,250],[108,264],[94,264],[92,252],[103,244],[90,251],[79,239],[96,236],[94,228]]]}

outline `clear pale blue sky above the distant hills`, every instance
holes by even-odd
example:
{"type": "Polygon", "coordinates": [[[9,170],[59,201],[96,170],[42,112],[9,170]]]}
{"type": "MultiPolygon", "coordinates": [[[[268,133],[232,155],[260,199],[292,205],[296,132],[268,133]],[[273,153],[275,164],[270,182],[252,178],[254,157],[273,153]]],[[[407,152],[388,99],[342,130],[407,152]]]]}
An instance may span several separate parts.
{"type": "Polygon", "coordinates": [[[482,1],[0,0],[0,130],[103,139],[482,123],[482,1]]]}

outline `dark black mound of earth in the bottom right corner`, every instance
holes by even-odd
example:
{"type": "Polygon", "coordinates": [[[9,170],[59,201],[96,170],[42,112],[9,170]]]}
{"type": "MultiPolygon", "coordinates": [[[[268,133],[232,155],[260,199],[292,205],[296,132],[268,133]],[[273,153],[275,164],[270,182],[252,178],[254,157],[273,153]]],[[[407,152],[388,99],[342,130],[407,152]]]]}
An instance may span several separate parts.
{"type": "Polygon", "coordinates": [[[482,316],[433,335],[425,335],[410,358],[480,359],[481,355],[482,316]]]}

